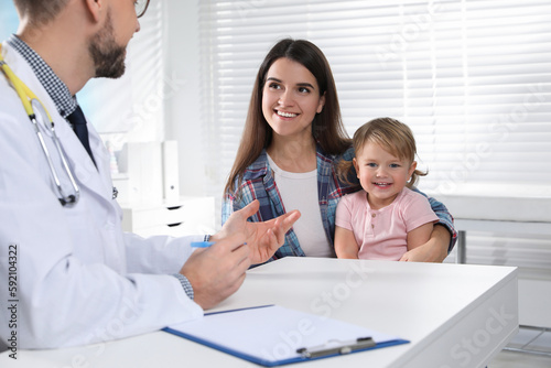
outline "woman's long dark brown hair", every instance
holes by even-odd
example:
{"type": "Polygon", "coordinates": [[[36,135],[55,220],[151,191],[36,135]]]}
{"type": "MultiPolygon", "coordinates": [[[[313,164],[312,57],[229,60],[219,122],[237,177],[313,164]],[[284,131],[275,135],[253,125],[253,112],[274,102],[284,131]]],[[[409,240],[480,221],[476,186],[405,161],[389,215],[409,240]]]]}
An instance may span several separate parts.
{"type": "Polygon", "coordinates": [[[316,113],[312,121],[314,140],[327,154],[341,154],[350,147],[350,139],[341,117],[335,80],[325,55],[310,41],[281,40],[268,52],[258,71],[241,142],[226,183],[225,195],[238,191],[236,185],[242,180],[247,166],[257,160],[262,149],[270,145],[272,129],[262,113],[262,93],[268,71],[276,61],[283,57],[300,63],[309,69],[317,82],[320,96],[325,96],[322,111],[316,113]]]}

